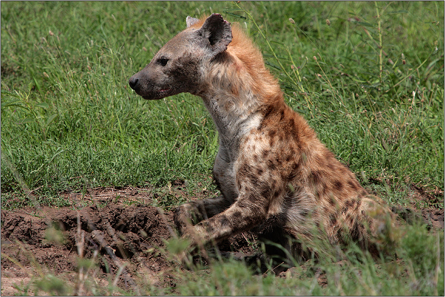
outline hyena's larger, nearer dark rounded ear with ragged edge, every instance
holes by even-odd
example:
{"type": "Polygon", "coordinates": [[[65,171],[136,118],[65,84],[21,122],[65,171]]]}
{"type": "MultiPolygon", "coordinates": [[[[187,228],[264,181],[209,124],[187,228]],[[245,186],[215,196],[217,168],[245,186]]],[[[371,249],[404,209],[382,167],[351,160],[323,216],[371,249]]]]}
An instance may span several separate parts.
{"type": "Polygon", "coordinates": [[[218,13],[209,16],[199,31],[203,37],[208,38],[211,50],[215,55],[226,50],[227,45],[232,41],[230,23],[218,13]]]}

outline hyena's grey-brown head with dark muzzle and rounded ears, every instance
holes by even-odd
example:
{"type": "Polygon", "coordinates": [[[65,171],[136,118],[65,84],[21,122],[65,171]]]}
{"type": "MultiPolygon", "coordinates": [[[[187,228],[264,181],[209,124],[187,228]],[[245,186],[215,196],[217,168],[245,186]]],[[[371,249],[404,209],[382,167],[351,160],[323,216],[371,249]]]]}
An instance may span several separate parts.
{"type": "Polygon", "coordinates": [[[140,72],[130,87],[144,99],[156,100],[183,92],[199,93],[206,69],[232,41],[230,24],[212,14],[199,28],[198,19],[187,17],[187,29],[168,41],[140,72]]]}

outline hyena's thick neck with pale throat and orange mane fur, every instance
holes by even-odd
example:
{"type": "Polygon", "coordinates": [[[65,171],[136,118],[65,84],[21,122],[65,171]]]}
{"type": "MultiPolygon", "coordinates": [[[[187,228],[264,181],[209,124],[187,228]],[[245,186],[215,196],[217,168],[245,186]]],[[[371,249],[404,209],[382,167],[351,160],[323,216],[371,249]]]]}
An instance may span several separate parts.
{"type": "Polygon", "coordinates": [[[249,60],[229,48],[203,75],[206,82],[196,95],[212,115],[222,142],[236,144],[260,126],[265,110],[284,104],[278,82],[265,69],[261,54],[255,54],[249,60]]]}

